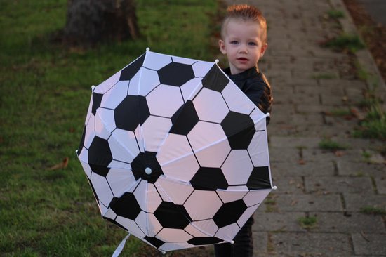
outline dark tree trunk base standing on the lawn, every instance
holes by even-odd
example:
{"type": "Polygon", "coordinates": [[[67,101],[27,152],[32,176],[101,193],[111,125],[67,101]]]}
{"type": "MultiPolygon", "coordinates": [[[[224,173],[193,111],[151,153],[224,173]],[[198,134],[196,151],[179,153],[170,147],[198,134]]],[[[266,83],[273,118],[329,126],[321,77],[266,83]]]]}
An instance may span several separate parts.
{"type": "Polygon", "coordinates": [[[68,0],[64,39],[94,45],[139,36],[134,0],[68,0]]]}

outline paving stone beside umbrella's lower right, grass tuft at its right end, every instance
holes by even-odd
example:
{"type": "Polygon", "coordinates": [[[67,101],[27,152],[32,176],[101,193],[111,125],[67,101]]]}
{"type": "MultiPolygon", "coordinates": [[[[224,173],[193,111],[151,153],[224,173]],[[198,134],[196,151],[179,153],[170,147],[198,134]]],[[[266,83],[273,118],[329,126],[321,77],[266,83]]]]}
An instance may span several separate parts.
{"type": "Polygon", "coordinates": [[[298,223],[298,218],[304,217],[303,212],[256,212],[253,231],[272,232],[305,232],[298,223]]]}

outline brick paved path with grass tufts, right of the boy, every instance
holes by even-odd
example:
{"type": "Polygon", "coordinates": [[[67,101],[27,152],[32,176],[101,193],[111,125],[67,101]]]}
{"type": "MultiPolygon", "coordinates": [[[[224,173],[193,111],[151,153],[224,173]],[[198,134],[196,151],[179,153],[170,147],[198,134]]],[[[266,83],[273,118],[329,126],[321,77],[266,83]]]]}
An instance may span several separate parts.
{"type": "MultiPolygon", "coordinates": [[[[268,133],[278,187],[255,213],[255,256],[386,256],[385,220],[359,211],[386,207],[386,166],[374,151],[381,143],[350,138],[356,119],[325,114],[349,110],[366,89],[354,79],[349,55],[318,44],[340,27],[353,32],[350,15],[340,0],[249,2],[268,20],[269,47],[260,69],[274,92],[268,133]],[[326,18],[333,8],[345,12],[340,24],[326,18]],[[347,150],[321,150],[324,137],[347,150]],[[364,162],[364,152],[375,163],[364,162]],[[314,228],[300,226],[298,219],[306,216],[316,216],[314,228]]],[[[369,62],[367,51],[358,56],[369,62]]],[[[385,87],[379,91],[385,95],[385,87]]]]}

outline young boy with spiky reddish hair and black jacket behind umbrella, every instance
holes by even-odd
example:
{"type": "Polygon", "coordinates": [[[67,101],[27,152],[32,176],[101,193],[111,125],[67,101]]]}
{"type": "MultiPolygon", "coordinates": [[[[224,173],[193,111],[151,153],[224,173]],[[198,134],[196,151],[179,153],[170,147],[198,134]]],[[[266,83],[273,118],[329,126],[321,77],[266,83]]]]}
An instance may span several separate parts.
{"type": "MultiPolygon", "coordinates": [[[[258,69],[258,61],[268,46],[267,22],[258,8],[246,4],[229,6],[218,44],[229,62],[224,72],[262,112],[270,112],[271,87],[258,69]]],[[[234,237],[234,244],[215,244],[215,256],[253,256],[252,224],[253,217],[234,237]]]]}

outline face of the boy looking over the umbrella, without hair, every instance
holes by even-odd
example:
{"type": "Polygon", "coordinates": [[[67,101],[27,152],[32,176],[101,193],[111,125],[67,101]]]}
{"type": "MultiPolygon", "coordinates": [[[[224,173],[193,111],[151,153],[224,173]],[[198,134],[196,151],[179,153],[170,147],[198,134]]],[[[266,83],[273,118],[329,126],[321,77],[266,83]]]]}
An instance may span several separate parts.
{"type": "Polygon", "coordinates": [[[260,25],[252,21],[230,19],[225,23],[224,38],[218,41],[227,55],[231,74],[239,74],[258,64],[267,49],[260,25]]]}

